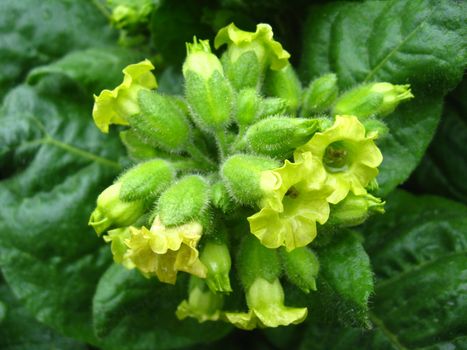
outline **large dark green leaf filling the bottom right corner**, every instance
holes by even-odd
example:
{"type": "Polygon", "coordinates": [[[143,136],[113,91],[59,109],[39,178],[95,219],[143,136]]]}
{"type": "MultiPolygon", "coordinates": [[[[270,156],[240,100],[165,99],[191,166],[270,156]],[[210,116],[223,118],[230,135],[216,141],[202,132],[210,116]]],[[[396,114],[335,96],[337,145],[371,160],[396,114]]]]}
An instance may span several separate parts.
{"type": "Polygon", "coordinates": [[[461,349],[467,345],[467,207],[395,192],[365,226],[376,274],[375,330],[310,323],[303,349],[461,349]]]}

